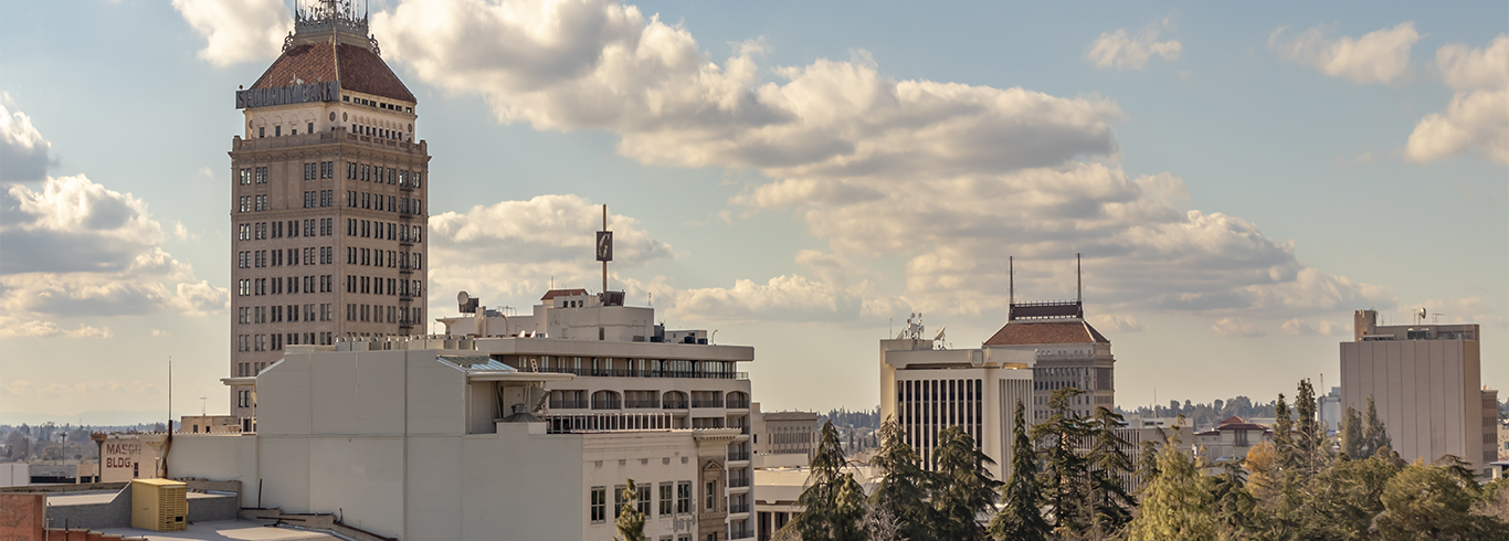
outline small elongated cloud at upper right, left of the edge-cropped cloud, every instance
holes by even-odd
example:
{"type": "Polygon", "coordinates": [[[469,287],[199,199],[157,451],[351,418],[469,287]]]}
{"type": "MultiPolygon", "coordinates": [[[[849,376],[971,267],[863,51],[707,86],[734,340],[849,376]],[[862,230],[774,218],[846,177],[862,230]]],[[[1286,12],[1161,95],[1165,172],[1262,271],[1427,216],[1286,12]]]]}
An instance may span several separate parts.
{"type": "Polygon", "coordinates": [[[1414,23],[1369,32],[1361,38],[1328,38],[1334,30],[1317,26],[1289,35],[1289,27],[1281,26],[1268,36],[1268,48],[1280,59],[1358,84],[1390,84],[1409,78],[1409,48],[1420,41],[1414,23]]]}

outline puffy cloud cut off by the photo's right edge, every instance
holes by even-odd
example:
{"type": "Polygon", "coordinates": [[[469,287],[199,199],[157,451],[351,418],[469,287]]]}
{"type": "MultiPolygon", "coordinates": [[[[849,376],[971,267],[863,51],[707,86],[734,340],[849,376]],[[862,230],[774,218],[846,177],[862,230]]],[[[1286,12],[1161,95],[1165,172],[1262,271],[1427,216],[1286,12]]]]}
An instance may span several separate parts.
{"type": "Polygon", "coordinates": [[[1426,163],[1477,149],[1491,161],[1509,163],[1509,36],[1498,35],[1485,48],[1441,47],[1435,63],[1455,93],[1444,112],[1415,124],[1405,157],[1426,163]]]}

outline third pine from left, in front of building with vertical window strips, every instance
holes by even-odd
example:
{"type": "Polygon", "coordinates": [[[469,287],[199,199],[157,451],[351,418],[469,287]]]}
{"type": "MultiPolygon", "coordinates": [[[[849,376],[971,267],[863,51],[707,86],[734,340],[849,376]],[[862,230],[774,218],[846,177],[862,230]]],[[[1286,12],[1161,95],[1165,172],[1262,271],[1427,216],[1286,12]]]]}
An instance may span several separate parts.
{"type": "Polygon", "coordinates": [[[930,491],[939,518],[933,529],[939,538],[985,539],[978,517],[996,505],[1000,481],[988,469],[994,464],[964,428],[955,425],[939,432],[937,475],[930,491]]]}

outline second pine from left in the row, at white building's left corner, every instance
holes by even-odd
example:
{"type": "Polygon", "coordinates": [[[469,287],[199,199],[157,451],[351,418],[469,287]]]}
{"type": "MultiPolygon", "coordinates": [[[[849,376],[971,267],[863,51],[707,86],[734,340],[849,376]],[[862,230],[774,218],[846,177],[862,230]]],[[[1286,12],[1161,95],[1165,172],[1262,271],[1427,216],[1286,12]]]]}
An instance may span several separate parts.
{"type": "Polygon", "coordinates": [[[925,487],[931,484],[930,473],[919,466],[920,457],[902,439],[895,417],[886,417],[877,434],[880,448],[869,464],[875,467],[880,482],[871,496],[871,506],[895,518],[896,529],[911,541],[933,538],[928,527],[930,503],[925,487]]]}

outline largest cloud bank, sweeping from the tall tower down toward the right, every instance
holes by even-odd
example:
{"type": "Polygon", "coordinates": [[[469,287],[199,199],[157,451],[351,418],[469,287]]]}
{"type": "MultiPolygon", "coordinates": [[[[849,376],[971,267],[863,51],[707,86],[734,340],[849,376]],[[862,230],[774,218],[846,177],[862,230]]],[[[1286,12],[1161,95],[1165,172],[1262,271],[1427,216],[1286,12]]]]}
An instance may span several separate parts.
{"type": "MultiPolygon", "coordinates": [[[[1124,172],[1112,131],[1123,113],[1099,95],[893,78],[863,50],[767,66],[761,41],[718,63],[679,24],[607,0],[404,0],[374,14],[373,29],[389,59],[481,96],[499,122],[607,131],[644,164],[754,170],[730,202],[745,214],[792,212],[827,243],[797,255],[812,273],[726,288],[678,292],[614,276],[658,291],[659,307],[750,318],[1003,312],[1010,255],[1035,268],[1019,276],[1019,292],[1053,298],[1073,295],[1076,252],[1086,255],[1091,301],[1121,310],[1293,318],[1396,301],[1302,264],[1293,241],[1251,222],[1191,209],[1174,175],[1124,172]],[[899,294],[851,273],[898,259],[899,294]]],[[[555,219],[545,200],[499,205],[433,219],[436,291],[493,280],[506,297],[537,294],[563,267],[579,271],[558,279],[596,283],[584,202],[569,202],[581,217],[564,229],[542,226],[555,219]]]]}

